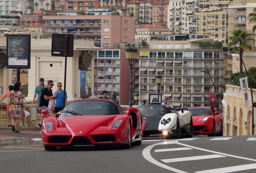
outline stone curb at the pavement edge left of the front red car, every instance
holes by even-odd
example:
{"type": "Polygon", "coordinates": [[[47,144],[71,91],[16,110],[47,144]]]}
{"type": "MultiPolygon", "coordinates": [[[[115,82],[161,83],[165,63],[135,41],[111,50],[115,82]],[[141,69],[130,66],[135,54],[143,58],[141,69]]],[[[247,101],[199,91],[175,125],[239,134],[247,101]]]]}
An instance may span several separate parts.
{"type": "Polygon", "coordinates": [[[38,143],[40,143],[40,141],[34,141],[26,137],[0,139],[0,146],[27,145],[27,144],[38,144],[38,143]]]}

